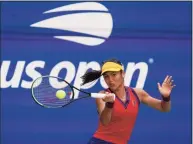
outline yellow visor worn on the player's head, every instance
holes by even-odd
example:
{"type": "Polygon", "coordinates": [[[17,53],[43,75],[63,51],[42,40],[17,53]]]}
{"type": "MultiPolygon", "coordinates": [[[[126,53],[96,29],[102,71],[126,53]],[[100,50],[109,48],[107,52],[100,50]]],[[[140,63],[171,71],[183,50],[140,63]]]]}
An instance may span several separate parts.
{"type": "Polygon", "coordinates": [[[107,71],[120,71],[123,70],[123,67],[117,63],[114,62],[106,62],[103,66],[102,66],[102,73],[104,74],[107,71]]]}

